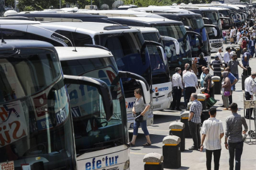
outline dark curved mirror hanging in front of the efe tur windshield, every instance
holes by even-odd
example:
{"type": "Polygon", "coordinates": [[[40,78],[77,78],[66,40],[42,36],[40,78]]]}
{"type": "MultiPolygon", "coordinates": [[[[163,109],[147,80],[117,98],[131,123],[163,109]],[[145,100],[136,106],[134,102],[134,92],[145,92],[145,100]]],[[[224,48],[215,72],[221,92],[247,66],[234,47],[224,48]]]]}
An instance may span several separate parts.
{"type": "Polygon", "coordinates": [[[64,75],[64,83],[65,84],[83,84],[87,86],[93,86],[98,89],[98,92],[102,96],[103,107],[106,113],[107,121],[113,115],[113,101],[112,95],[110,93],[110,89],[106,82],[101,81],[100,79],[95,79],[91,77],[84,77],[84,76],[69,76],[64,75]]]}

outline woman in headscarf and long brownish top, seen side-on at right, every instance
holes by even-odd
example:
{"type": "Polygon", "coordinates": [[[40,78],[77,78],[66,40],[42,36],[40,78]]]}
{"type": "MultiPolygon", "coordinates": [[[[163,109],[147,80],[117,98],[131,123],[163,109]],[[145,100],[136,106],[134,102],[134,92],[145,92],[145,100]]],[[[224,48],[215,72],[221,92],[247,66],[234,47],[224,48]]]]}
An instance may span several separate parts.
{"type": "Polygon", "coordinates": [[[230,74],[228,71],[224,71],[222,73],[223,75],[223,80],[221,82],[222,100],[225,107],[223,110],[228,110],[230,106],[230,104],[228,103],[228,96],[231,95],[231,82],[230,82],[230,78],[228,77],[228,74],[230,74]]]}

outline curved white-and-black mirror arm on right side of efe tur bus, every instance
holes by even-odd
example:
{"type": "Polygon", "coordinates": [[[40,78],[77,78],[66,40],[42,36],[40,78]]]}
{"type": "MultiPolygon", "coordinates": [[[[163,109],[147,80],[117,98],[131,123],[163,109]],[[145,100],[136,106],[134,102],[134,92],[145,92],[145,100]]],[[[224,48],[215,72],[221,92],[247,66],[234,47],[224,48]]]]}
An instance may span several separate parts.
{"type": "Polygon", "coordinates": [[[139,84],[139,87],[143,90],[143,99],[144,103],[150,103],[150,91],[148,82],[144,77],[139,76],[138,74],[127,72],[127,71],[119,71],[119,77],[129,77],[132,79],[136,79],[137,84],[139,84]]]}

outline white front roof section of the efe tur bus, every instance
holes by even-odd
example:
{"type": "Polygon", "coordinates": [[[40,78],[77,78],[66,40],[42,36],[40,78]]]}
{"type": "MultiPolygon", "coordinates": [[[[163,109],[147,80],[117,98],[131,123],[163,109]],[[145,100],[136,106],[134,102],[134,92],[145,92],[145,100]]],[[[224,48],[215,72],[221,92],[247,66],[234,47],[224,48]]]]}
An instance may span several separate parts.
{"type": "Polygon", "coordinates": [[[100,57],[112,57],[112,53],[100,48],[93,47],[55,47],[59,60],[91,59],[100,57]]]}

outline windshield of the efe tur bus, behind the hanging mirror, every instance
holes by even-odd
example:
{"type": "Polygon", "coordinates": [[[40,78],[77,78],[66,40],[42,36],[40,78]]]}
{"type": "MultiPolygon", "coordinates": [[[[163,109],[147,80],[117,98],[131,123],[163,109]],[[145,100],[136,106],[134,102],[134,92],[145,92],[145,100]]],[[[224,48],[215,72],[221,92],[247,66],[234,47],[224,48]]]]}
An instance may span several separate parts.
{"type": "Polygon", "coordinates": [[[88,76],[106,82],[113,99],[113,116],[107,122],[102,98],[96,88],[75,84],[67,87],[78,156],[127,141],[124,94],[113,57],[63,60],[61,65],[66,75],[88,76]]]}

